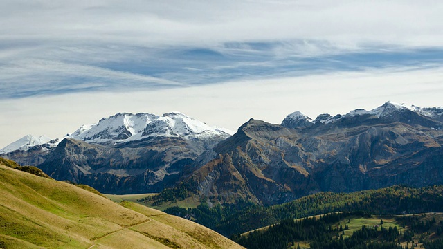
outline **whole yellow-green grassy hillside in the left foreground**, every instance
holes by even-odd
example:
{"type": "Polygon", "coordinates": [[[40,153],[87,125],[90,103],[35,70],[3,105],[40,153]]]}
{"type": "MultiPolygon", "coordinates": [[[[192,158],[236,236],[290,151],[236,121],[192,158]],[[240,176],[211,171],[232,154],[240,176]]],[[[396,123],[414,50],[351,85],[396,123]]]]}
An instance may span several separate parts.
{"type": "Polygon", "coordinates": [[[241,248],[158,210],[0,163],[0,248],[241,248]]]}

